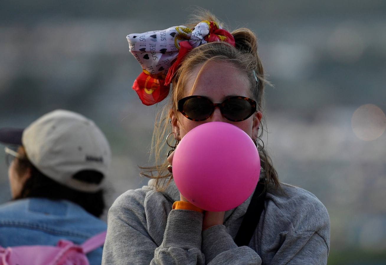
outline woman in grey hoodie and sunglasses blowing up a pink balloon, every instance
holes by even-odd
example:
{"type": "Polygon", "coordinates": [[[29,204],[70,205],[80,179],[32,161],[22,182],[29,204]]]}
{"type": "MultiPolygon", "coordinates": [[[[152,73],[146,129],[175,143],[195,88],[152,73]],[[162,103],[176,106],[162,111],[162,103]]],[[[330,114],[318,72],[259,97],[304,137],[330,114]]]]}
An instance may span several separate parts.
{"type": "Polygon", "coordinates": [[[167,171],[173,153],[168,161],[160,153],[168,132],[178,144],[194,127],[221,121],[241,128],[256,143],[262,135],[266,81],[256,36],[248,29],[230,34],[210,14],[196,21],[201,22],[191,29],[179,26],[127,37],[130,52],[144,69],[133,87],[142,102],[159,102],[168,94],[169,83],[172,88],[154,132],[157,165],[144,173],[153,179],[148,186],[121,195],[110,208],[103,264],[326,264],[327,210],[308,191],[279,183],[260,144],[256,147],[266,196],[246,246],[239,247],[234,240],[252,196],[230,211],[210,212],[191,205],[177,190],[167,171]],[[152,57],[156,63],[150,65],[146,58],[152,57]],[[211,102],[224,106],[210,107],[211,102]],[[232,104],[242,106],[242,111],[227,109],[232,104]]]}

